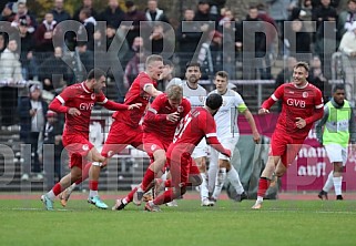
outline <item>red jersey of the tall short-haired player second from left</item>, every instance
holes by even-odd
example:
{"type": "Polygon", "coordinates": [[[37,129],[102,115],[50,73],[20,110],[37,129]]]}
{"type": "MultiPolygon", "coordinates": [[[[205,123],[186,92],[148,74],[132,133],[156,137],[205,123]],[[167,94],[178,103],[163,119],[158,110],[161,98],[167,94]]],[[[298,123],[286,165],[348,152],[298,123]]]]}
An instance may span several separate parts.
{"type": "Polygon", "coordinates": [[[131,88],[125,95],[124,104],[130,105],[133,103],[142,103],[142,106],[140,106],[140,109],[130,111],[115,112],[113,117],[116,121],[124,122],[132,127],[139,126],[139,123],[151,99],[151,96],[144,91],[145,86],[149,84],[152,84],[155,88],[157,85],[155,80],[152,80],[145,72],[141,72],[131,84],[131,88]]]}

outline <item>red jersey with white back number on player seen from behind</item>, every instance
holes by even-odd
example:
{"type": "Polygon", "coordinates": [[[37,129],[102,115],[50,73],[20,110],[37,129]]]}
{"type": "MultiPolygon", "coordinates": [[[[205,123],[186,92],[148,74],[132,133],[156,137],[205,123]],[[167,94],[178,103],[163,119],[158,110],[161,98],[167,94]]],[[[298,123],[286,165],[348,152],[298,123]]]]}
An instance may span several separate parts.
{"type": "Polygon", "coordinates": [[[174,133],[173,143],[167,150],[167,156],[174,153],[190,153],[203,137],[216,136],[214,117],[204,107],[196,107],[183,117],[174,133]]]}

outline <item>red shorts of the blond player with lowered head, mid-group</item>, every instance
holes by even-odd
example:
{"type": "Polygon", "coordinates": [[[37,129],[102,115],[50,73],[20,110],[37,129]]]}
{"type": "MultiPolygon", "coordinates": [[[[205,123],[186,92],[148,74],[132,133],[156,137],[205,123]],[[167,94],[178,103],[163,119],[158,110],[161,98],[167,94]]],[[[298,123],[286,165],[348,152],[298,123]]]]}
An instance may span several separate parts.
{"type": "Polygon", "coordinates": [[[170,144],[172,143],[171,140],[166,140],[160,137],[155,133],[143,133],[143,150],[149,154],[151,162],[153,162],[153,153],[157,150],[163,150],[166,152],[170,144]]]}

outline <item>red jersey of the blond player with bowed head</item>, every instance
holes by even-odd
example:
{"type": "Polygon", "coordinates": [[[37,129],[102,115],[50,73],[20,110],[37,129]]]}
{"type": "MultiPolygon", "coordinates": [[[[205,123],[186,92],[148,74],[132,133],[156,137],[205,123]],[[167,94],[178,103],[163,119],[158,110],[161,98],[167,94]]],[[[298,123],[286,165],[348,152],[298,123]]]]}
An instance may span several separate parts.
{"type": "Polygon", "coordinates": [[[180,120],[183,119],[191,111],[191,103],[183,98],[182,103],[177,109],[172,107],[166,94],[160,94],[151,104],[143,121],[143,131],[146,133],[156,133],[162,137],[173,140],[173,135],[180,120]],[[179,112],[180,120],[171,122],[166,120],[166,115],[179,112]]]}

